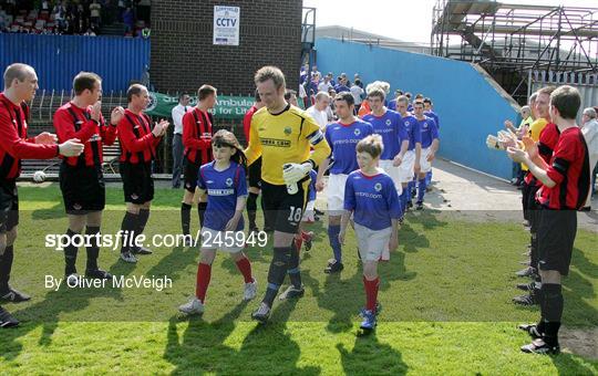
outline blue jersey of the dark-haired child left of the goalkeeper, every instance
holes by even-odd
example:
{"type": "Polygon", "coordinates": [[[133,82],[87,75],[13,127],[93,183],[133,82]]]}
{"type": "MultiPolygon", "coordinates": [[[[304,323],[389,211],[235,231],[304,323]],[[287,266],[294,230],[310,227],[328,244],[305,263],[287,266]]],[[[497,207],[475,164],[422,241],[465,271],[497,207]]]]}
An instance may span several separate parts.
{"type": "MultiPolygon", "coordinates": [[[[247,196],[247,181],[245,170],[238,164],[230,161],[230,166],[224,171],[217,171],[210,161],[199,167],[197,187],[208,195],[208,202],[204,226],[216,231],[224,231],[226,223],[235,216],[237,198],[247,196]]],[[[243,217],[239,220],[237,231],[243,230],[243,217]]]]}

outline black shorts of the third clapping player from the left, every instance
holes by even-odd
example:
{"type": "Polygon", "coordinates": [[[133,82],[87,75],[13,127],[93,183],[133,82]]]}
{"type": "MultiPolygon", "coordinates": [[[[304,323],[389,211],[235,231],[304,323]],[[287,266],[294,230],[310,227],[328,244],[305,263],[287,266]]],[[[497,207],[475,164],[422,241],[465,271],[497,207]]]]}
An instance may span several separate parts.
{"type": "Polygon", "coordinates": [[[152,163],[121,163],[121,177],[125,202],[144,203],[154,199],[154,178],[152,163]]]}

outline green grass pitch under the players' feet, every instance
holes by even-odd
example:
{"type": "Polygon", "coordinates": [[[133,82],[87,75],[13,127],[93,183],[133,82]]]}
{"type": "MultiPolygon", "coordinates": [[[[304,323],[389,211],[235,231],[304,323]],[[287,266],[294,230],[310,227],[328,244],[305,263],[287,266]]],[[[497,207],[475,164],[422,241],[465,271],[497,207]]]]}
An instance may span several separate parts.
{"type": "MultiPolygon", "coordinates": [[[[22,320],[0,332],[0,372],[8,373],[183,373],[183,374],[565,374],[598,373],[596,359],[565,353],[556,357],[522,354],[528,342],[515,330],[535,321],[537,310],[514,306],[519,281],[513,271],[527,236],[516,223],[470,222],[440,212],[410,215],[399,251],[380,267],[383,311],[375,334],[359,337],[357,312],[363,305],[355,241],[344,248],[346,269],[322,272],[330,258],[326,228],[313,250],[302,254],[306,296],[276,303],[272,322],[249,321],[257,302],[240,303],[241,278],[218,254],[203,317],[185,320],[176,307],[195,286],[197,251],[155,249],[136,265],[117,262],[103,250],[101,265],[114,274],[167,275],[173,288],[87,289],[58,292],[43,275],[61,278],[61,252],[45,249],[47,233],[63,233],[66,219],[60,192],[21,188],[20,238],[12,284],[34,297],[8,304],[22,320]]],[[[179,192],[156,190],[146,233],[177,233],[179,192]]],[[[124,213],[118,189],[107,190],[104,233],[115,233],[124,213]]],[[[196,228],[196,219],[193,217],[196,228]]],[[[569,276],[564,283],[567,328],[598,326],[597,234],[579,231],[569,276]]],[[[84,270],[85,255],[78,262],[84,270]]],[[[247,251],[265,289],[271,248],[247,251]]]]}

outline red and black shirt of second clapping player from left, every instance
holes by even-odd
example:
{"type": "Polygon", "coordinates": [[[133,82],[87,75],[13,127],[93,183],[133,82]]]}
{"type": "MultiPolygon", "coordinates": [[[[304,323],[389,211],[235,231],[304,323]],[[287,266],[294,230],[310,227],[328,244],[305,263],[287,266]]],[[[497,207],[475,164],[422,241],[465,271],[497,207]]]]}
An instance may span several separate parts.
{"type": "Polygon", "coordinates": [[[93,121],[90,108],[80,108],[72,102],[55,112],[54,128],[60,143],[78,138],[84,145],[79,157],[65,158],[71,166],[102,166],[102,145],[112,145],[116,139],[115,126],[105,126],[103,117],[93,121]]]}

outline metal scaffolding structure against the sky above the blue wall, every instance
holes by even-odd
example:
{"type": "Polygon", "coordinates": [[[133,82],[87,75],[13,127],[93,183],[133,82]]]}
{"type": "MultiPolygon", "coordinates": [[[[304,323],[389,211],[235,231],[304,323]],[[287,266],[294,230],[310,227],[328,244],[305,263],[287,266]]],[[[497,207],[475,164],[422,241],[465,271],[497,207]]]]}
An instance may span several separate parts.
{"type": "Polygon", "coordinates": [[[433,54],[480,64],[520,103],[532,72],[598,83],[598,8],[437,0],[432,22],[433,54]]]}

